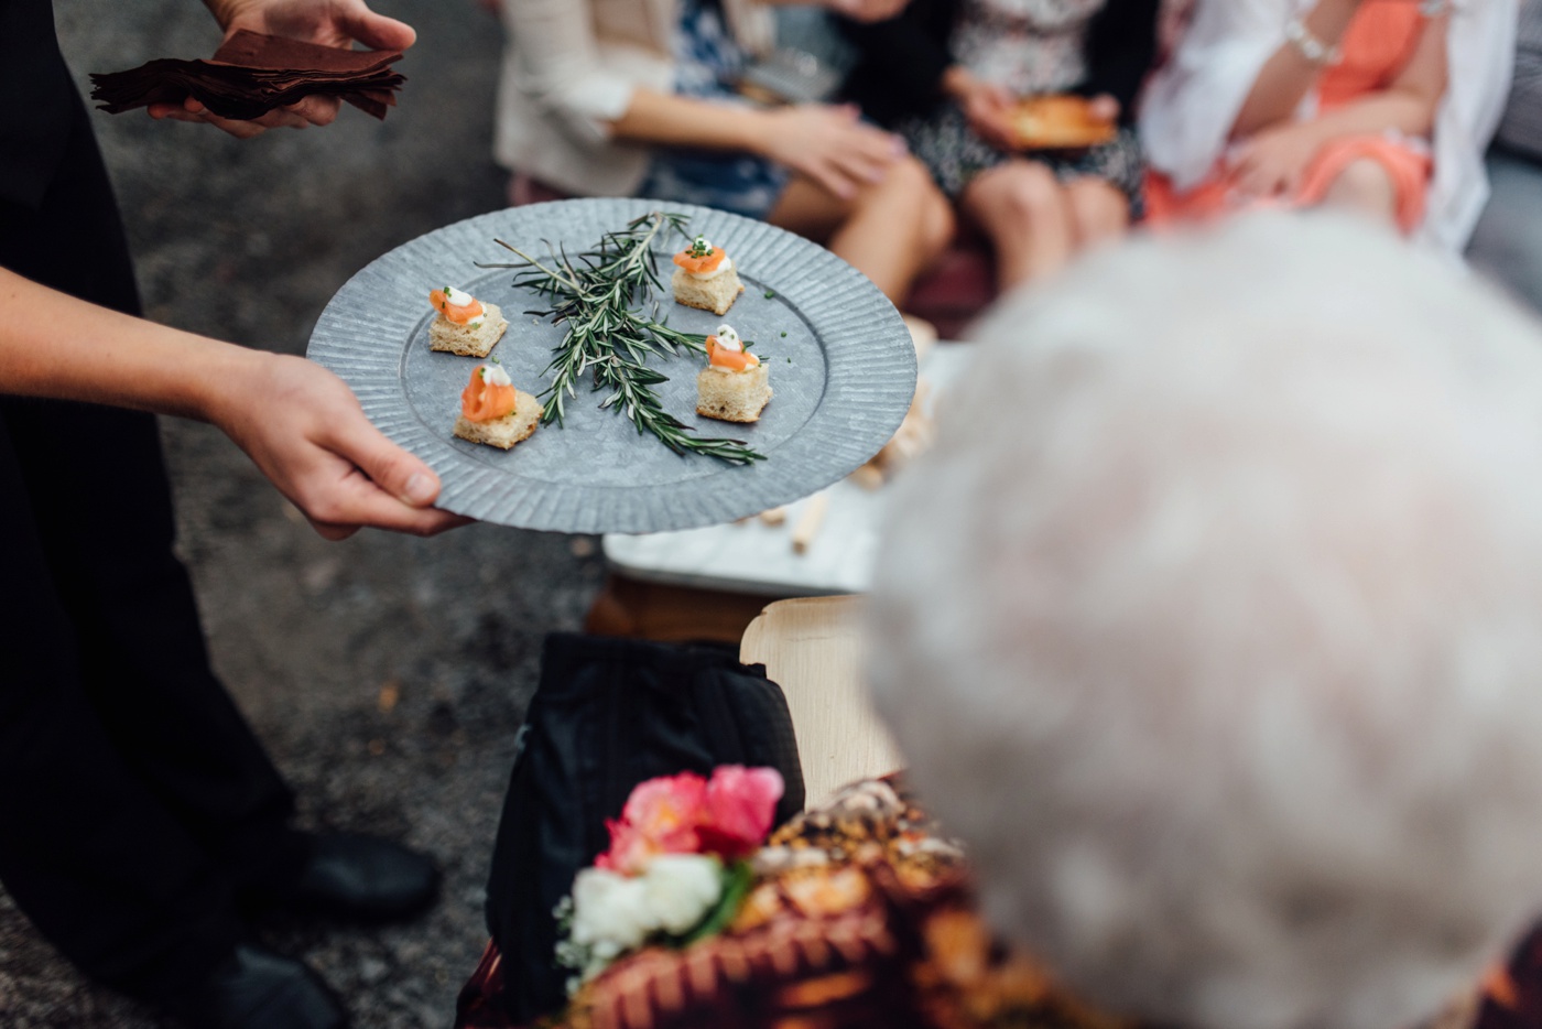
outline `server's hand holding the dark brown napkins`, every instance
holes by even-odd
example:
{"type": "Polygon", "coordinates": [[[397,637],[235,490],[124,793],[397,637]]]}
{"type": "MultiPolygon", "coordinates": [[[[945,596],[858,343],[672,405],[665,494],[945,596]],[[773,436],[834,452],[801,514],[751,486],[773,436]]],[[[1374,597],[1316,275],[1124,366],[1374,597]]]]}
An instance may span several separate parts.
{"type": "MultiPolygon", "coordinates": [[[[350,48],[362,43],[369,49],[407,49],[418,34],[410,25],[375,14],[364,0],[205,0],[214,19],[230,39],[241,29],[282,35],[322,46],[350,48]]],[[[305,128],[330,125],[338,117],[336,97],[305,97],[298,103],[268,111],[259,119],[233,120],[219,117],[188,97],[182,103],[151,103],[150,117],[177,122],[205,122],[237,139],[261,136],[270,128],[305,128]]]]}

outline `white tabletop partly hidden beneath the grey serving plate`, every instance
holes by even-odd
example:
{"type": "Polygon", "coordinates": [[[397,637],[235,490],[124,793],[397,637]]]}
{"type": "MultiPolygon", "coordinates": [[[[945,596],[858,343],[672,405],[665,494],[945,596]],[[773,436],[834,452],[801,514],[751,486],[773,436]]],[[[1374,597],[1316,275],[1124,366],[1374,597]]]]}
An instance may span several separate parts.
{"type": "MultiPolygon", "coordinates": [[[[928,409],[962,372],[970,349],[941,342],[922,359],[921,375],[931,383],[928,409]]],[[[793,528],[811,497],[788,504],[779,526],[751,518],[683,532],[612,532],[603,540],[604,555],[614,571],[629,579],[674,586],[766,597],[867,592],[890,491],[842,480],[822,492],[828,497],[825,520],[802,554],[793,549],[793,528]]]]}

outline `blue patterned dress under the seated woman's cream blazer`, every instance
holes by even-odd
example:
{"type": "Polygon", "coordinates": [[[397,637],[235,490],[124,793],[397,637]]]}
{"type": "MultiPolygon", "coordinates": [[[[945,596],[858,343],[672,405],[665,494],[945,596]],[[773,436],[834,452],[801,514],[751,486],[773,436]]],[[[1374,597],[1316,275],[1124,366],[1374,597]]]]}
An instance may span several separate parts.
{"type": "MultiPolygon", "coordinates": [[[[675,93],[714,103],[743,105],[736,91],[745,51],[723,25],[717,0],[678,0],[675,93]]],[[[715,207],[763,219],[786,188],[788,171],[743,151],[660,147],[637,196],[715,207]]]]}

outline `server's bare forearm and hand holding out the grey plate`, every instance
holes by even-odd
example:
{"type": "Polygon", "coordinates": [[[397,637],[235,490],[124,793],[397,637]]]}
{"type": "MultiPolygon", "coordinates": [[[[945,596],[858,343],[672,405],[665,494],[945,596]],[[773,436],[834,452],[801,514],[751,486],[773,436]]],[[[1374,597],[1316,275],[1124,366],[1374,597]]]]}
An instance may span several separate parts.
{"type": "Polygon", "coordinates": [[[433,471],[304,358],[131,318],[0,268],[0,392],[210,421],[324,537],[362,526],[432,535],[466,520],[429,504],[433,471]]]}

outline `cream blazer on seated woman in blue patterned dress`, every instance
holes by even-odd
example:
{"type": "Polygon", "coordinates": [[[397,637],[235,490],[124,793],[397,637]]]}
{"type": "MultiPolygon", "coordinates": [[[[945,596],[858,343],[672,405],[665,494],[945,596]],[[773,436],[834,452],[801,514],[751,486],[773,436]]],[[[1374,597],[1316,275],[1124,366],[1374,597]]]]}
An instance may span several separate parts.
{"type": "MultiPolygon", "coordinates": [[[[771,12],[723,0],[728,29],[752,54],[774,45],[771,12]]],[[[581,196],[629,196],[648,148],[617,143],[609,123],[638,86],[674,88],[675,0],[503,0],[507,35],[493,156],[581,196]]]]}

